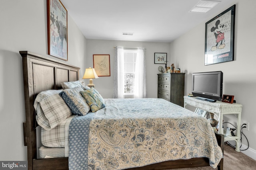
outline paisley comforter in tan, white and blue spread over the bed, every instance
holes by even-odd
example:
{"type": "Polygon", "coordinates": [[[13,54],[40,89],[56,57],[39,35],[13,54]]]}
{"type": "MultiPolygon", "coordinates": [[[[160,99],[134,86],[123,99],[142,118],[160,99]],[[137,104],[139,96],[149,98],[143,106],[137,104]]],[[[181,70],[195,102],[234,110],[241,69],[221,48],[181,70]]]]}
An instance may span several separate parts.
{"type": "Polygon", "coordinates": [[[210,123],[163,99],[105,99],[70,123],[69,169],[114,170],[156,162],[223,157],[210,123]]]}

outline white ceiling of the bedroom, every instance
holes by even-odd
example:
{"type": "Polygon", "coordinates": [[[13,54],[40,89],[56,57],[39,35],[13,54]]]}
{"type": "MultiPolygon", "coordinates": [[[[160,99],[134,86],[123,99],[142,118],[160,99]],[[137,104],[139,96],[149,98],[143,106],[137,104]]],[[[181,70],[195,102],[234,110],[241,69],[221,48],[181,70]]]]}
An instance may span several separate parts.
{"type": "Polygon", "coordinates": [[[61,0],[86,39],[172,42],[214,18],[237,0],[192,13],[200,0],[61,0]],[[123,32],[134,35],[122,35],[123,32]]]}

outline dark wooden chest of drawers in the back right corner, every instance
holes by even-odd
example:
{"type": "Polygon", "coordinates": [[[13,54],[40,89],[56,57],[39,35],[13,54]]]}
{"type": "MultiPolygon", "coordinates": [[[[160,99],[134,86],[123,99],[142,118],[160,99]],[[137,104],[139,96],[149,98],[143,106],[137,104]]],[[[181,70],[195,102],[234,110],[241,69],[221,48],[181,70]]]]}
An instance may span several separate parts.
{"type": "Polygon", "coordinates": [[[169,102],[184,106],[185,73],[161,73],[158,75],[158,95],[169,102]]]}

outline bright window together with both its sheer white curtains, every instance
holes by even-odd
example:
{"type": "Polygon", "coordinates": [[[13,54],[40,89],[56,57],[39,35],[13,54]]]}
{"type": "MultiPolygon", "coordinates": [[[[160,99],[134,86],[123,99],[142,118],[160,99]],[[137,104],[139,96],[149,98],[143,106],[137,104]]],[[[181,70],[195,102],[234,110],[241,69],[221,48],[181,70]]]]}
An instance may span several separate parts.
{"type": "Polygon", "coordinates": [[[116,47],[113,98],[146,98],[143,48],[116,47]]]}

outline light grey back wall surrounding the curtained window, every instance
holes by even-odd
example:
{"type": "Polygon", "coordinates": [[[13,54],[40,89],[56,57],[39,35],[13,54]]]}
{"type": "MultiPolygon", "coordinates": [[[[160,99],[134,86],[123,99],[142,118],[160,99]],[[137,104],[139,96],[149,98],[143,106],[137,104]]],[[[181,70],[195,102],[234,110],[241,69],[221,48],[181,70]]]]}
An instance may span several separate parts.
{"type": "MultiPolygon", "coordinates": [[[[110,76],[99,77],[93,80],[95,88],[100,92],[103,98],[113,98],[113,82],[114,82],[114,61],[116,46],[126,48],[144,47],[146,55],[146,79],[147,79],[147,98],[157,98],[157,74],[158,66],[164,64],[154,64],[154,53],[170,54],[170,43],[154,43],[139,41],[112,41],[112,40],[96,40],[87,39],[87,67],[93,67],[94,54],[110,55],[110,76]]],[[[88,80],[84,80],[88,84],[88,80]]]]}

